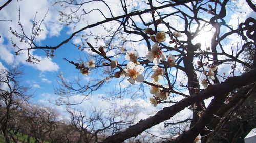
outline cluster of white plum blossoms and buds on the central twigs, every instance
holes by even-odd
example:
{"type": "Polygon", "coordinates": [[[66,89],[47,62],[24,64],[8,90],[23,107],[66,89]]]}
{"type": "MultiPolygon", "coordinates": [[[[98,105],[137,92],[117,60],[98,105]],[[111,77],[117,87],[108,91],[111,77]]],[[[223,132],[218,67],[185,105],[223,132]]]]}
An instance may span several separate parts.
{"type": "MultiPolygon", "coordinates": [[[[152,67],[153,74],[151,75],[153,86],[151,87],[150,93],[153,94],[153,97],[150,98],[150,102],[153,104],[153,106],[156,106],[158,103],[160,103],[161,100],[166,100],[169,92],[165,89],[167,87],[163,87],[159,80],[163,80],[164,75],[166,74],[166,69],[159,67],[159,64],[162,63],[169,67],[174,67],[177,65],[175,62],[175,56],[172,54],[169,54],[167,57],[165,53],[162,51],[160,47],[160,42],[164,42],[166,40],[165,32],[159,31],[155,32],[151,28],[147,28],[145,30],[145,33],[150,34],[151,40],[154,42],[154,44],[151,46],[151,49],[146,54],[146,59],[150,62],[153,62],[154,66],[152,67]],[[162,87],[162,88],[161,88],[162,87]]],[[[175,33],[177,37],[181,36],[180,33],[175,33]]],[[[99,54],[103,57],[106,56],[106,52],[104,50],[104,47],[99,47],[98,49],[99,54]]],[[[122,53],[126,51],[123,47],[121,49],[122,53]]],[[[103,65],[110,66],[111,68],[118,67],[120,71],[115,72],[114,77],[119,78],[121,75],[124,77],[129,77],[128,81],[131,84],[135,84],[136,82],[143,82],[144,81],[144,67],[140,65],[140,62],[138,61],[139,54],[136,50],[133,51],[127,51],[125,54],[125,60],[128,60],[129,62],[126,65],[126,68],[122,69],[117,60],[110,61],[109,63],[104,62],[103,65]]],[[[89,60],[87,63],[82,62],[80,66],[85,67],[80,70],[80,72],[84,75],[89,75],[90,68],[95,67],[95,62],[93,60],[89,60]]]]}

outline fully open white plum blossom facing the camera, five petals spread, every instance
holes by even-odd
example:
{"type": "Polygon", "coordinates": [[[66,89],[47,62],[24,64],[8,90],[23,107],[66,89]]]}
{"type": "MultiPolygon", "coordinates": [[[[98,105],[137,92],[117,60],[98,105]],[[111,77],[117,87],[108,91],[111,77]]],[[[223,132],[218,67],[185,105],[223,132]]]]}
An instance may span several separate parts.
{"type": "Polygon", "coordinates": [[[130,77],[128,79],[128,81],[131,84],[135,83],[135,80],[137,82],[143,82],[144,81],[144,76],[142,75],[143,71],[144,71],[144,67],[141,65],[137,65],[135,66],[135,64],[133,62],[128,62],[126,69],[123,69],[124,72],[122,72],[122,74],[124,76],[128,76],[130,77]]]}

